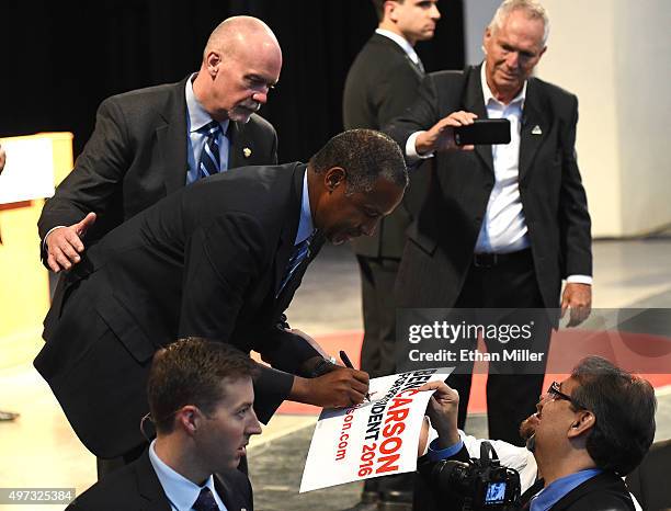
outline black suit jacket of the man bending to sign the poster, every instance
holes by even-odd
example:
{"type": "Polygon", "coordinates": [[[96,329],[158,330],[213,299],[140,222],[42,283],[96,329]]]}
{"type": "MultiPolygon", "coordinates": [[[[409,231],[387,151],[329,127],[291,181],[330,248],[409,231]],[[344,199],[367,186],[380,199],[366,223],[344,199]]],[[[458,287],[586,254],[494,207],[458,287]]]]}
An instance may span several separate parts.
{"type": "Polygon", "coordinates": [[[254,350],[280,370],[262,372],[255,385],[264,422],[288,396],[287,373],[318,356],[277,327],[309,263],[276,296],[294,251],[305,172],[289,163],[198,181],[112,230],[67,274],[35,367],[99,457],[144,442],[148,367],[153,352],[179,337],[254,350]]]}

